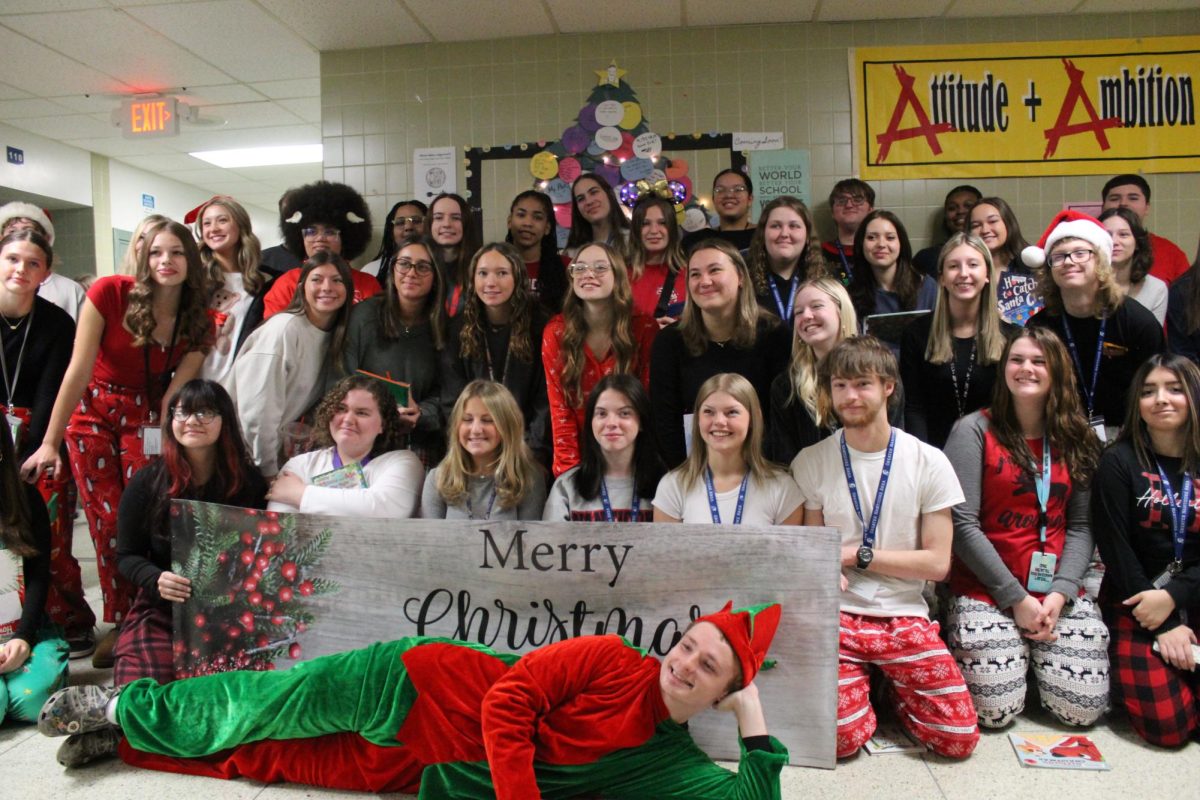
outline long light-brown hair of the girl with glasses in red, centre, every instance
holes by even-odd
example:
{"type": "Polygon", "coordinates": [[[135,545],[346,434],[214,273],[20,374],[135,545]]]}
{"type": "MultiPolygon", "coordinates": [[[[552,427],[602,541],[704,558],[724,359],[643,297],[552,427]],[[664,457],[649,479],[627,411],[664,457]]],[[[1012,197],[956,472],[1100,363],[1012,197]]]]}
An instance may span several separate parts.
{"type": "MultiPolygon", "coordinates": [[[[612,265],[612,351],[617,357],[613,372],[634,373],[637,369],[637,343],[634,341],[634,290],[629,284],[629,271],[620,251],[604,242],[592,242],[580,248],[598,247],[612,265]]],[[[578,257],[578,253],[576,253],[578,257]]],[[[559,359],[563,365],[563,389],[575,407],[582,407],[583,397],[583,339],[588,335],[588,320],[583,317],[583,301],[575,294],[575,277],[570,278],[570,291],[563,300],[563,341],[559,359]]]]}

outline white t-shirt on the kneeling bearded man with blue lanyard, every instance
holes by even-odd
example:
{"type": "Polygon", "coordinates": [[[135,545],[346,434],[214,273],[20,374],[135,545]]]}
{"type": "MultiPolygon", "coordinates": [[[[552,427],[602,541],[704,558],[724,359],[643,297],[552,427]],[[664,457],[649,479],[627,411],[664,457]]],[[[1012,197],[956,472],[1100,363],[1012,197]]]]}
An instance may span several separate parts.
{"type": "MultiPolygon", "coordinates": [[[[858,547],[863,543],[863,523],[854,512],[841,464],[844,435],[845,432],[839,431],[802,450],[792,462],[792,477],[804,493],[804,507],[823,512],[826,525],[841,533],[842,545],[858,547]]],[[[881,450],[869,453],[850,449],[850,463],[858,483],[858,500],[866,519],[870,519],[875,505],[886,452],[881,450]]],[[[960,503],[962,488],[946,455],[912,434],[896,431],[895,453],[875,534],[875,547],[881,551],[919,549],[922,515],[960,503]]],[[[848,569],[846,573],[851,587],[841,593],[844,612],[866,616],[929,618],[929,607],[920,594],[924,581],[894,578],[856,569],[848,569]]]]}

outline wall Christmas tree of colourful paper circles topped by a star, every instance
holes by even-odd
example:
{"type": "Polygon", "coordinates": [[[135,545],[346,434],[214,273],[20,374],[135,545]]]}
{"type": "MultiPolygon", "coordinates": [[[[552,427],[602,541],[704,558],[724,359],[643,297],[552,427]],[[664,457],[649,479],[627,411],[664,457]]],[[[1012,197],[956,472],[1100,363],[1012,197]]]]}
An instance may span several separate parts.
{"type": "Polygon", "coordinates": [[[662,137],[650,130],[637,94],[624,80],[626,70],[613,60],[594,72],[598,83],[575,121],[529,161],[535,186],[554,203],[559,245],[571,225],[571,184],[582,173],[602,176],[626,207],[653,192],[676,204],[686,230],[707,225],[692,196],[688,162],[662,155],[662,137]]]}

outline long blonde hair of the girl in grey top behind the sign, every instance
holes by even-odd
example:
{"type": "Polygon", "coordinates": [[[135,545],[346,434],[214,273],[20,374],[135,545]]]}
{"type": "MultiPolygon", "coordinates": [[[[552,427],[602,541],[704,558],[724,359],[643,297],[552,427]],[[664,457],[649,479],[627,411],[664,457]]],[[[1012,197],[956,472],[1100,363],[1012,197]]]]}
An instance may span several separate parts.
{"type": "Polygon", "coordinates": [[[467,401],[479,398],[492,415],[500,434],[500,456],[492,480],[496,482],[496,504],[515,509],[526,499],[535,481],[540,481],[533,452],[524,443],[524,415],[512,393],[491,380],[473,380],[458,395],[450,423],[446,426],[446,456],[438,464],[438,494],[446,505],[460,505],[470,492],[473,459],[458,443],[458,426],[467,411],[467,401]]]}

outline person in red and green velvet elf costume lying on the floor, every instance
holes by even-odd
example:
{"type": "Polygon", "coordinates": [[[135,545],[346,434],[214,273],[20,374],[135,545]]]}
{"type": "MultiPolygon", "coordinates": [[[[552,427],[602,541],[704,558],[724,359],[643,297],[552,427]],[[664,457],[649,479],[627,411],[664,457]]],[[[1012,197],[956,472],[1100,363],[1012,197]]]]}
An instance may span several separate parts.
{"type": "Polygon", "coordinates": [[[778,604],[726,603],[661,662],[618,636],[524,656],[412,637],[286,672],[72,686],[47,700],[38,729],[116,726],[121,758],[150,769],[419,798],[778,799],[787,751],[752,681],[779,618],[778,604]],[[737,716],[737,772],[688,734],[708,708],[737,716]]]}

